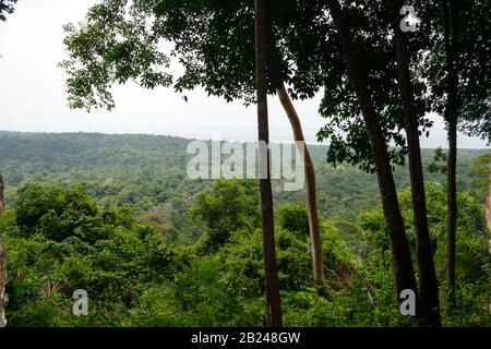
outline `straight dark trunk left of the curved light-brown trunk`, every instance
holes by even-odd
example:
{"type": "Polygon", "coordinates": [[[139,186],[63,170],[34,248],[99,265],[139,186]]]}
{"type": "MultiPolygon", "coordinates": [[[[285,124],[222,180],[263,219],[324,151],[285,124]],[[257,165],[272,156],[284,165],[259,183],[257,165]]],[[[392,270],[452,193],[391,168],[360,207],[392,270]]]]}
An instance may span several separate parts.
{"type": "MultiPolygon", "coordinates": [[[[270,143],[267,121],[267,76],[266,76],[266,0],[255,0],[255,57],[258,84],[258,131],[259,141],[270,143]]],[[[273,191],[270,176],[270,151],[260,153],[260,173],[267,172],[265,179],[260,178],[264,268],[266,279],[267,325],[282,326],[282,309],[279,302],[279,281],[276,266],[275,229],[273,214],[273,191]],[[262,158],[266,156],[266,159],[262,158]],[[266,169],[262,167],[266,166],[266,169]]]]}

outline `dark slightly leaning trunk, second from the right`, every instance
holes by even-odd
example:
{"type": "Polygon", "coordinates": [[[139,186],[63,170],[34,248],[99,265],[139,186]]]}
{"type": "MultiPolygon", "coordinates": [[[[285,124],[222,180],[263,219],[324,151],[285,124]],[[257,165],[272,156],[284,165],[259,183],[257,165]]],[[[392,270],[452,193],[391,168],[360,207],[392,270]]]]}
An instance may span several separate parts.
{"type": "Polygon", "coordinates": [[[406,34],[400,29],[399,14],[402,1],[391,1],[394,12],[393,29],[397,61],[397,76],[403,100],[409,155],[409,177],[411,182],[414,222],[416,228],[416,245],[418,258],[419,290],[421,300],[422,324],[439,327],[440,316],[439,287],[433,263],[430,232],[428,229],[427,200],[424,177],[419,143],[419,121],[416,110],[414,87],[409,69],[409,51],[406,34]]]}

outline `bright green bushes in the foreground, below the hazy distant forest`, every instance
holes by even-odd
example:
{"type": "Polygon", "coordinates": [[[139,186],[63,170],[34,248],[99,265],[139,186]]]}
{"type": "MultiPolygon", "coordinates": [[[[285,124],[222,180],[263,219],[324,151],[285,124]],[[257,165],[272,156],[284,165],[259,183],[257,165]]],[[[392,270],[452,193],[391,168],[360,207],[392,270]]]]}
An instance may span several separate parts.
{"type": "MultiPolygon", "coordinates": [[[[128,206],[100,207],[81,186],[22,185],[0,217],[10,254],[9,326],[262,326],[264,269],[253,181],[220,180],[189,209],[193,239],[137,220],[128,206]],[[182,243],[183,240],[189,241],[182,243]],[[88,293],[88,316],[72,314],[72,293],[88,293]]],[[[428,182],[430,231],[446,292],[445,193],[428,182]]],[[[410,192],[399,196],[410,243],[410,192]]],[[[456,311],[445,325],[491,323],[489,238],[482,205],[462,192],[456,311]]],[[[398,313],[381,208],[356,221],[323,219],[326,281],[311,280],[307,213],[277,208],[277,263],[287,326],[411,326],[398,313]]],[[[182,232],[185,233],[185,232],[182,232]]],[[[445,299],[445,298],[443,298],[445,299]]]]}

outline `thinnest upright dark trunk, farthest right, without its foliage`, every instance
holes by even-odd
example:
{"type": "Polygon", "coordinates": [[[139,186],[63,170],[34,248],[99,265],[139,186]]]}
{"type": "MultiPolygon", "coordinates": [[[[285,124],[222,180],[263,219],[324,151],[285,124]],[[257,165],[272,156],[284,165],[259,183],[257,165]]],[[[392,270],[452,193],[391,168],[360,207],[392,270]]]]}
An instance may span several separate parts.
{"type": "Polygon", "coordinates": [[[455,298],[455,240],[457,229],[457,72],[456,56],[458,45],[457,32],[457,3],[454,0],[443,0],[444,40],[446,57],[446,84],[447,101],[445,120],[448,132],[448,189],[447,189],[447,268],[448,300],[454,308],[457,305],[455,298]]]}

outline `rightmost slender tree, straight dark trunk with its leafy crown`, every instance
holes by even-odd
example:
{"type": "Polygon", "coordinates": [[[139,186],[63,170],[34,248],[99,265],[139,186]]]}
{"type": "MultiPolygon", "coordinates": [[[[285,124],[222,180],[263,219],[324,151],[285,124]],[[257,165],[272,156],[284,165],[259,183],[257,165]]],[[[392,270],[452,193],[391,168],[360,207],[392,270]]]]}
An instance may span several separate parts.
{"type": "Polygon", "coordinates": [[[489,1],[440,0],[421,2],[426,35],[433,45],[423,67],[431,87],[429,103],[447,127],[447,269],[448,299],[455,299],[457,205],[457,130],[490,140],[491,86],[482,71],[490,69],[489,1]]]}

